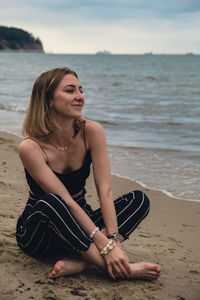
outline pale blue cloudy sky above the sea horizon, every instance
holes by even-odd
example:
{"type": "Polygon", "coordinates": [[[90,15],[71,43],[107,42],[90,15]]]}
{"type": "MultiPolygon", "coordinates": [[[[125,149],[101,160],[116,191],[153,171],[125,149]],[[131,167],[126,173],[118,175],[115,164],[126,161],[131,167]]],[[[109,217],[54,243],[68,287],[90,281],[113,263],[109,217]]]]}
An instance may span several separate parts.
{"type": "Polygon", "coordinates": [[[47,53],[200,54],[200,0],[0,0],[47,53]]]}

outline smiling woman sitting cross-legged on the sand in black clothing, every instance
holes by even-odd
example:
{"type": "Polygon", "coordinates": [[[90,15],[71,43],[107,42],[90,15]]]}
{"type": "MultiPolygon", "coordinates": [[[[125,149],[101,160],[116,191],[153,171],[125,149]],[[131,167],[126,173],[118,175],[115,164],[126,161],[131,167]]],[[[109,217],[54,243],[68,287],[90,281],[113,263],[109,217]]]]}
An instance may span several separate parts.
{"type": "Polygon", "coordinates": [[[149,200],[134,191],[113,202],[104,132],[82,118],[83,105],[82,87],[70,69],[47,71],[35,81],[23,127],[27,138],[19,145],[30,196],[17,223],[18,245],[31,256],[79,253],[76,260],[59,260],[51,278],[92,264],[113,279],[155,280],[158,265],[131,264],[120,247],[148,214],[149,200]],[[100,201],[96,211],[85,201],[91,163],[100,201]]]}

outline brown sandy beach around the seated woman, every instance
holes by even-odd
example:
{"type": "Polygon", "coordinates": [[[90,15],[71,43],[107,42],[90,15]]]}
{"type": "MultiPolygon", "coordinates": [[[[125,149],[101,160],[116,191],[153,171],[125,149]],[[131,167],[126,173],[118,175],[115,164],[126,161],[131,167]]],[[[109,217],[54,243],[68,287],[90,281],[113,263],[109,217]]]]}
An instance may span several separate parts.
{"type": "MultiPolygon", "coordinates": [[[[28,257],[18,248],[15,226],[25,206],[28,187],[17,155],[20,138],[0,132],[0,299],[200,300],[200,203],[170,198],[113,176],[113,194],[143,189],[151,200],[145,221],[123,244],[130,261],[151,261],[162,267],[156,282],[113,282],[97,268],[51,280],[54,261],[28,257]]],[[[92,177],[88,202],[98,207],[92,177]]]]}

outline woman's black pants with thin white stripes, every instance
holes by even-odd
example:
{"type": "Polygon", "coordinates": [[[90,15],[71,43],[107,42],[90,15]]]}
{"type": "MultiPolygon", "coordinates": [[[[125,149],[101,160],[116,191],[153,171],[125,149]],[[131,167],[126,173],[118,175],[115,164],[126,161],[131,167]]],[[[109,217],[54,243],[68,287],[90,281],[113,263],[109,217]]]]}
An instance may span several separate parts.
{"type": "MultiPolygon", "coordinates": [[[[74,199],[100,229],[104,228],[101,210],[92,210],[85,193],[74,199]]],[[[150,202],[142,191],[133,191],[114,201],[118,231],[128,238],[149,212],[150,202]]],[[[42,199],[30,194],[17,222],[19,247],[32,256],[65,251],[86,251],[91,238],[70,213],[66,202],[58,195],[47,194],[42,199]]]]}

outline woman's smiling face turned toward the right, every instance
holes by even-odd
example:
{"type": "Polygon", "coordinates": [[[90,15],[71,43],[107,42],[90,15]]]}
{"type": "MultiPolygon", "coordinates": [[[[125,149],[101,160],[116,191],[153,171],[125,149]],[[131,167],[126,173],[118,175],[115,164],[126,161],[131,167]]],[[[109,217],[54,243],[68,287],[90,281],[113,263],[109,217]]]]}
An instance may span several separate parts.
{"type": "Polygon", "coordinates": [[[53,99],[50,101],[53,116],[64,116],[65,118],[81,117],[84,105],[82,93],[82,87],[78,78],[72,74],[65,75],[57,86],[53,99]]]}

